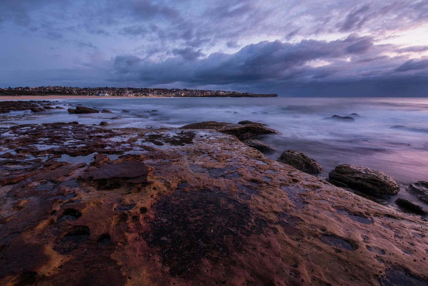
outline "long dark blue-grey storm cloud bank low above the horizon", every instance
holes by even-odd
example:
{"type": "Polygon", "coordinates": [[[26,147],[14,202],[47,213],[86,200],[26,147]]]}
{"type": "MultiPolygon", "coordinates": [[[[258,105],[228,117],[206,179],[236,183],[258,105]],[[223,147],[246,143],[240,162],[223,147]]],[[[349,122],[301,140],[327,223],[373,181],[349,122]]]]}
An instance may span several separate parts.
{"type": "MultiPolygon", "coordinates": [[[[235,54],[217,52],[205,58],[199,54],[183,57],[187,53],[184,49],[175,51],[175,57],[160,62],[123,55],[115,58],[114,75],[110,80],[146,85],[182,83],[184,86],[247,86],[247,89],[269,88],[274,92],[278,92],[282,86],[288,86],[287,90],[292,90],[294,95],[308,90],[315,92],[316,86],[322,90],[330,86],[330,93],[333,86],[358,89],[358,84],[366,92],[372,88],[378,92],[392,92],[389,85],[395,86],[397,90],[403,90],[408,84],[418,88],[427,86],[427,74],[410,73],[401,76],[400,71],[424,69],[428,67],[428,60],[403,63],[400,57],[377,56],[377,52],[372,51],[372,48],[376,50],[372,41],[371,37],[355,34],[330,42],[303,40],[291,44],[279,40],[264,41],[247,45],[235,54]],[[330,64],[311,65],[313,61],[317,63],[320,60],[330,64]],[[372,65],[369,70],[366,65],[368,62],[372,65]],[[302,90],[298,91],[299,88],[302,90]]],[[[187,51],[190,54],[196,52],[193,49],[187,51]]]]}

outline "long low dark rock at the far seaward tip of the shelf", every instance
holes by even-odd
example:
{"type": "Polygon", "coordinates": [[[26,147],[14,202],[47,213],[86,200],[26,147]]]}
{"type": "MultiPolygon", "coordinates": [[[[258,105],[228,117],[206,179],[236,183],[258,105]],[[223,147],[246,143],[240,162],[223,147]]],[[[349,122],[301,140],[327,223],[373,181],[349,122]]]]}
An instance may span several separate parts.
{"type": "Polygon", "coordinates": [[[257,135],[279,134],[274,129],[267,128],[262,124],[233,124],[228,122],[207,121],[192,123],[181,127],[183,129],[214,129],[222,133],[235,135],[239,140],[250,139],[257,135]]]}

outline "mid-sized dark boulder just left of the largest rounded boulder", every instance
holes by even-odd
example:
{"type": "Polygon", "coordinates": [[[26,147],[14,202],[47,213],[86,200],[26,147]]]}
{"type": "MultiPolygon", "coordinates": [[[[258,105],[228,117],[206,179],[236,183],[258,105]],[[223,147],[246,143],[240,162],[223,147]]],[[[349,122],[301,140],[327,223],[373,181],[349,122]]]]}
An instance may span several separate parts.
{"type": "Polygon", "coordinates": [[[324,170],[318,161],[296,150],[285,150],[276,161],[291,165],[308,174],[318,174],[324,170]]]}

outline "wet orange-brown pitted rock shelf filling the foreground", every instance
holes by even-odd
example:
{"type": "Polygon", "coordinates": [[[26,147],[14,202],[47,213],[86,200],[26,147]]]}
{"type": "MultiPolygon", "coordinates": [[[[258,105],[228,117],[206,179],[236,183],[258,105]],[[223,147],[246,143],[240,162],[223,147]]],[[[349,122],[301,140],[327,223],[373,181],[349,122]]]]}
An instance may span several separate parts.
{"type": "Polygon", "coordinates": [[[427,221],[245,144],[276,132],[3,122],[1,285],[428,285],[427,221]]]}

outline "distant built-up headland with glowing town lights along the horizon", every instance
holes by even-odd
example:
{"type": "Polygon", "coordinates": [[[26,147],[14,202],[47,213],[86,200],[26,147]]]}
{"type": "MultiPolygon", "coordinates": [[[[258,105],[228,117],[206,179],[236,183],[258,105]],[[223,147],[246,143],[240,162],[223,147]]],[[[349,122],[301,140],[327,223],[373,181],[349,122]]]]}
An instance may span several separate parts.
{"type": "Polygon", "coordinates": [[[40,95],[84,95],[84,96],[120,96],[120,97],[277,97],[277,94],[259,94],[252,92],[204,90],[204,89],[165,89],[137,87],[8,87],[0,89],[0,96],[40,96],[40,95]]]}

